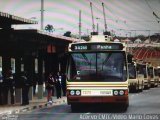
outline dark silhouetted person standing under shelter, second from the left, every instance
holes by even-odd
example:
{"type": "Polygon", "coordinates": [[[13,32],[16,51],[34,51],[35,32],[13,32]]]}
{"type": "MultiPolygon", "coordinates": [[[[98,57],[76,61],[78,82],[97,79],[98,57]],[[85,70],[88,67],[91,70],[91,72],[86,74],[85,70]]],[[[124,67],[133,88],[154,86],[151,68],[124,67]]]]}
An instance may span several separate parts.
{"type": "Polygon", "coordinates": [[[23,81],[22,85],[22,105],[29,104],[29,80],[26,72],[22,72],[20,76],[20,80],[23,81]]]}

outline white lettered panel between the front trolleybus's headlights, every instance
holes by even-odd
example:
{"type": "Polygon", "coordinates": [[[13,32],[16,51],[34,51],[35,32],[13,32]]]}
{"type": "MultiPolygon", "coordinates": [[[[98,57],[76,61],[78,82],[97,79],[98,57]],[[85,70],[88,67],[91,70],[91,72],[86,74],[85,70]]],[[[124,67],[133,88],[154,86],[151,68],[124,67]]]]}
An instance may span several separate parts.
{"type": "Polygon", "coordinates": [[[112,96],[112,90],[82,90],[82,96],[112,96]]]}

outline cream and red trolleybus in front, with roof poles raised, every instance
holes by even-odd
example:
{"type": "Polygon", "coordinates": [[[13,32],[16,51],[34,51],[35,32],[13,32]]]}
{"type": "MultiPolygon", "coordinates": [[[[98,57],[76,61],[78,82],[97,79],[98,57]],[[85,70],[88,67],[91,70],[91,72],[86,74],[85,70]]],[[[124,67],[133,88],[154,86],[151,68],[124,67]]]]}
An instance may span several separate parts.
{"type": "Polygon", "coordinates": [[[96,103],[120,103],[124,110],[128,108],[128,67],[124,44],[96,35],[88,42],[71,43],[68,52],[67,101],[72,111],[96,103]]]}

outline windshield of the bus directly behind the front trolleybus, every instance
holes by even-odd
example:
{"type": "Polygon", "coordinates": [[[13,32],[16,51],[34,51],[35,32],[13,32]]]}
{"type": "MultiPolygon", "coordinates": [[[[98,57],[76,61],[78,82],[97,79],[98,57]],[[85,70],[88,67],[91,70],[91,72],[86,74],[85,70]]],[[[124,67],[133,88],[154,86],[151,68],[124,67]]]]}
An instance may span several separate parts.
{"type": "Polygon", "coordinates": [[[136,68],[134,64],[128,64],[129,79],[136,79],[136,68]]]}

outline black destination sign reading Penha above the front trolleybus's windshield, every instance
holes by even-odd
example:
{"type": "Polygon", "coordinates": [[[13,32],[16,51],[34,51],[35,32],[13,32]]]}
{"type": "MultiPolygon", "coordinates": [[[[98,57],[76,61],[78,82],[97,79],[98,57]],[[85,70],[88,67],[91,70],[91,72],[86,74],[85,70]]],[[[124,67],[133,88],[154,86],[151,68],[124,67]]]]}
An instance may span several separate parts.
{"type": "Polygon", "coordinates": [[[84,50],[122,50],[123,44],[121,43],[80,43],[72,44],[71,50],[84,51],[84,50]]]}

